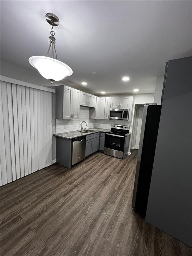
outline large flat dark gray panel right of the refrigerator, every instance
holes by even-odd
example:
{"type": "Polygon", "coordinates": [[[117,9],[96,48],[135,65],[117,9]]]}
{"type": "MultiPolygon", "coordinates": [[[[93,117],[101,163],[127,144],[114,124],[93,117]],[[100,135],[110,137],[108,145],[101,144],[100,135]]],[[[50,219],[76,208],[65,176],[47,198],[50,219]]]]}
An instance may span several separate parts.
{"type": "Polygon", "coordinates": [[[192,57],[168,63],[146,221],[192,246],[192,57]]]}

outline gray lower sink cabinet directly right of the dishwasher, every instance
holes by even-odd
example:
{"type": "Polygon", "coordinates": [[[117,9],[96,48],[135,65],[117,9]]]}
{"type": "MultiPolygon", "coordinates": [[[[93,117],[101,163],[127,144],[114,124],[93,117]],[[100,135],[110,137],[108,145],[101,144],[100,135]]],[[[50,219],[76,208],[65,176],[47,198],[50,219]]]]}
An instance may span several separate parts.
{"type": "Polygon", "coordinates": [[[86,136],[86,149],[85,149],[85,156],[89,156],[92,153],[99,150],[99,132],[94,133],[92,136],[86,136]]]}

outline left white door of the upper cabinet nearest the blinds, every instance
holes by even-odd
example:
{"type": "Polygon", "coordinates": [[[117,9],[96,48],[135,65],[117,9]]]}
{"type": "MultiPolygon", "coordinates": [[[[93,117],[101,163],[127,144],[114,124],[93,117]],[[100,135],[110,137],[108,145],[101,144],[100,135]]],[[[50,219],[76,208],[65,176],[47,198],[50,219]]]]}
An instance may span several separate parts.
{"type": "Polygon", "coordinates": [[[63,86],[63,119],[71,119],[72,117],[72,91],[69,86],[63,86]]]}

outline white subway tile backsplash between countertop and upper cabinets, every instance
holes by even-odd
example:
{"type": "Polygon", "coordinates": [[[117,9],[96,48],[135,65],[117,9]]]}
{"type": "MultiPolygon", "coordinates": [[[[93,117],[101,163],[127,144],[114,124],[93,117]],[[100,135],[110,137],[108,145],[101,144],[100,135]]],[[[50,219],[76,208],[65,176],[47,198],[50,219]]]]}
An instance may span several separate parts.
{"type": "Polygon", "coordinates": [[[80,106],[79,119],[72,120],[59,120],[56,119],[55,122],[55,133],[62,132],[71,132],[77,131],[81,129],[81,122],[85,121],[87,123],[87,127],[85,127],[85,123],[83,123],[83,128],[103,128],[103,129],[111,129],[111,124],[122,124],[129,125],[131,130],[131,122],[124,120],[103,120],[103,119],[89,119],[89,108],[80,106]]]}

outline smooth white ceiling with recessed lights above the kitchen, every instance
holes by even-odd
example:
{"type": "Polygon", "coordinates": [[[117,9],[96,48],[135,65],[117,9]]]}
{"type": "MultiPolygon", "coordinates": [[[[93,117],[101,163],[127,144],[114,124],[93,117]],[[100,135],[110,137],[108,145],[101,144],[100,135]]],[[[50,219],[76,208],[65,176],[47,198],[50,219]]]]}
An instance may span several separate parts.
{"type": "Polygon", "coordinates": [[[166,61],[192,55],[192,1],[1,1],[2,60],[34,71],[28,58],[49,45],[47,12],[60,19],[58,59],[73,69],[66,79],[97,94],[153,93],[166,61]]]}

